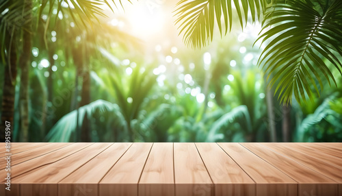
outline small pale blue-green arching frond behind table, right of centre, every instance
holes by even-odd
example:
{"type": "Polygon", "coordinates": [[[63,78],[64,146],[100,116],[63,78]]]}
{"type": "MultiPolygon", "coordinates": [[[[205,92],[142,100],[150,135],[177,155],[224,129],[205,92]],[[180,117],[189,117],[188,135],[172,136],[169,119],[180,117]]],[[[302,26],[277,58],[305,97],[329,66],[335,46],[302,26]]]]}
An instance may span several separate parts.
{"type": "Polygon", "coordinates": [[[237,106],[231,112],[224,114],[220,119],[213,123],[211,130],[209,131],[207,142],[215,142],[218,139],[224,138],[223,134],[220,134],[220,130],[223,127],[227,127],[230,123],[234,123],[237,119],[244,117],[246,119],[246,124],[248,125],[247,132],[252,132],[250,114],[246,106],[237,106]]]}

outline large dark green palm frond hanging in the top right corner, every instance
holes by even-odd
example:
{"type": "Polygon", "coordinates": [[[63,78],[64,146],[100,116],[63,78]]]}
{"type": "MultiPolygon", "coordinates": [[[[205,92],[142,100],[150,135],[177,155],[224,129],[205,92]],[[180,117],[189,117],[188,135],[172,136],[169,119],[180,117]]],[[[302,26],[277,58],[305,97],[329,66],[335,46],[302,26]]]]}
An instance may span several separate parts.
{"type": "Polygon", "coordinates": [[[327,5],[328,9],[321,10],[311,1],[290,0],[274,5],[265,14],[263,29],[267,31],[258,40],[269,44],[259,65],[266,67],[267,79],[272,75],[269,85],[277,84],[282,103],[291,103],[293,94],[299,103],[306,97],[312,99],[310,86],[319,94],[316,82],[322,89],[323,79],[337,85],[328,64],[342,74],[342,1],[327,5]]]}

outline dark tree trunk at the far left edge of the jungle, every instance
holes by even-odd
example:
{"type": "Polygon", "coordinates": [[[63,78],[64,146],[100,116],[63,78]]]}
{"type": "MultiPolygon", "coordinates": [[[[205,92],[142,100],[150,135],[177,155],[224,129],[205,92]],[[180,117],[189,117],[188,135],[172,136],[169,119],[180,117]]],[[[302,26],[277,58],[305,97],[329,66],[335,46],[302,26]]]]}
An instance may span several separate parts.
{"type": "Polygon", "coordinates": [[[0,130],[0,142],[5,141],[5,121],[11,123],[11,131],[14,130],[13,119],[14,119],[14,97],[15,97],[15,86],[16,86],[16,32],[14,36],[9,38],[12,40],[10,47],[7,47],[8,64],[5,65],[4,71],[4,82],[3,82],[3,98],[2,98],[2,114],[1,114],[1,130],[0,130]]]}

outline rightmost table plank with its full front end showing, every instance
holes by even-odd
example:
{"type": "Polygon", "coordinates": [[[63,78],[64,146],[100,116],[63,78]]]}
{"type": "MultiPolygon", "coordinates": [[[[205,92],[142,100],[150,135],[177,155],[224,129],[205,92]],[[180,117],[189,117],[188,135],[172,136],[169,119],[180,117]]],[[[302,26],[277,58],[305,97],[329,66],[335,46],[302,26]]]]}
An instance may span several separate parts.
{"type": "MultiPolygon", "coordinates": [[[[298,196],[306,196],[307,193],[337,196],[337,182],[321,175],[321,173],[309,169],[295,160],[279,154],[276,151],[272,151],[259,143],[241,143],[241,145],[298,182],[298,196]]],[[[269,145],[276,146],[279,144],[272,143],[269,145]]]]}

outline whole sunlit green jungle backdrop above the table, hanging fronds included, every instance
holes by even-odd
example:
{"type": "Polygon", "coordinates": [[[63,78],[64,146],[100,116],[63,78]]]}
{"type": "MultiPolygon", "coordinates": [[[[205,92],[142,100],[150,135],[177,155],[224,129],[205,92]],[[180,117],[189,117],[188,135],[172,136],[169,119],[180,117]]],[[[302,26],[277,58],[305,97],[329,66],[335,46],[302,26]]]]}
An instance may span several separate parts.
{"type": "Polygon", "coordinates": [[[342,142],[341,25],[338,0],[0,0],[1,140],[342,142]]]}

